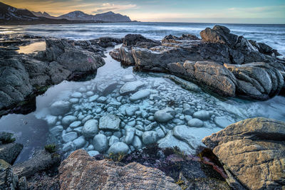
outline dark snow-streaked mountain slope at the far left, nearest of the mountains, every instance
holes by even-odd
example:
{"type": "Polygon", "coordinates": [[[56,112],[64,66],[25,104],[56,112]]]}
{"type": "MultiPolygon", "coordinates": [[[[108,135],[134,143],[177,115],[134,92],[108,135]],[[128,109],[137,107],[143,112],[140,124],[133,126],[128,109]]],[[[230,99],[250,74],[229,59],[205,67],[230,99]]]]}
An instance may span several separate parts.
{"type": "Polygon", "coordinates": [[[0,19],[8,21],[31,21],[38,20],[31,11],[27,9],[16,9],[0,2],[0,19]]]}

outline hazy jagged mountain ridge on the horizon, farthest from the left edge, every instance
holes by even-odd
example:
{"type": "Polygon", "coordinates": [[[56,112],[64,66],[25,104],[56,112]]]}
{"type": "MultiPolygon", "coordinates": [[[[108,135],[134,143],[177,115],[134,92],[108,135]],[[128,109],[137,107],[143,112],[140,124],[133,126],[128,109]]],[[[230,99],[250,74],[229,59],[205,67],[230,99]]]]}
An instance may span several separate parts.
{"type": "Polygon", "coordinates": [[[104,22],[130,22],[128,16],[115,14],[112,11],[104,14],[85,14],[82,11],[73,11],[57,17],[58,19],[68,19],[73,21],[104,21],[104,22]]]}

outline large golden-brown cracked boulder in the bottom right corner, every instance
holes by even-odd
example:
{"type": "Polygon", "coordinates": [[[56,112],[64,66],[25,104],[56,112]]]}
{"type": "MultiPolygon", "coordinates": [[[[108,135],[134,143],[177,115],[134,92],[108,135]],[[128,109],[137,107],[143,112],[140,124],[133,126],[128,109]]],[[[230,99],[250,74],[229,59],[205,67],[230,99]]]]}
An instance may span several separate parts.
{"type": "Polygon", "coordinates": [[[257,117],[229,125],[203,142],[246,188],[284,189],[284,140],[284,122],[257,117]]]}

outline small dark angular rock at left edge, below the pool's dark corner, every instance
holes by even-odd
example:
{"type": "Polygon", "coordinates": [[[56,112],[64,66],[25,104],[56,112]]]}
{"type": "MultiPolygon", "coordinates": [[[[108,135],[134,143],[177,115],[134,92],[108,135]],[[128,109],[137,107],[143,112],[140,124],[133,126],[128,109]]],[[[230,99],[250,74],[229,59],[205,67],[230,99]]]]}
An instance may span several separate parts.
{"type": "Polygon", "coordinates": [[[23,144],[16,142],[0,144],[0,159],[4,159],[9,164],[13,164],[22,149],[23,144]]]}

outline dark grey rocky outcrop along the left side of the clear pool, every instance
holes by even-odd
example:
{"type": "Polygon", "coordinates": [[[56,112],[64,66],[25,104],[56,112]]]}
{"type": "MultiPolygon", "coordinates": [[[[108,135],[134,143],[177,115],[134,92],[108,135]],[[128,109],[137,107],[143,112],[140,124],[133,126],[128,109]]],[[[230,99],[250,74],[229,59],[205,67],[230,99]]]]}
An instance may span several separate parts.
{"type": "Polygon", "coordinates": [[[47,86],[95,73],[105,64],[103,51],[98,42],[47,39],[46,51],[0,58],[0,110],[43,93],[47,86]]]}

